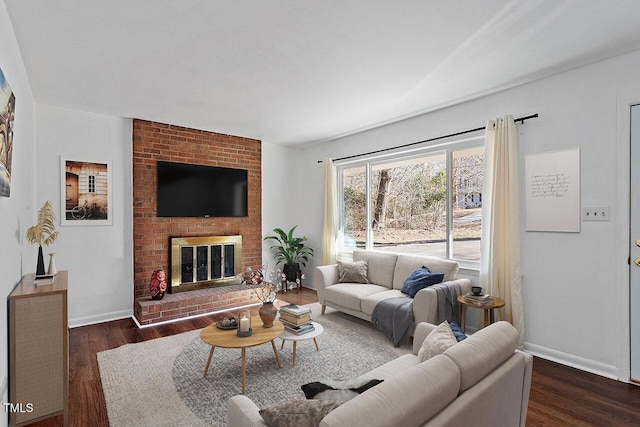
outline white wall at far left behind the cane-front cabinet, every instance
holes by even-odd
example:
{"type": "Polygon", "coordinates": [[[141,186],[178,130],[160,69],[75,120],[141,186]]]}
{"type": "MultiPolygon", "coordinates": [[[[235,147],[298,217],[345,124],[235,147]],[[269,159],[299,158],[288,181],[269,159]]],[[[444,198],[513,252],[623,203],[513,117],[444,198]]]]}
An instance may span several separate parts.
{"type": "MultiPolygon", "coordinates": [[[[0,40],[0,68],[16,97],[11,196],[0,197],[0,294],[7,297],[24,273],[35,271],[35,248],[23,243],[26,228],[35,221],[35,104],[4,2],[0,2],[0,40]]],[[[2,403],[8,401],[7,328],[7,304],[3,303],[0,304],[2,403]]],[[[0,408],[0,425],[7,422],[7,414],[0,408]]]]}

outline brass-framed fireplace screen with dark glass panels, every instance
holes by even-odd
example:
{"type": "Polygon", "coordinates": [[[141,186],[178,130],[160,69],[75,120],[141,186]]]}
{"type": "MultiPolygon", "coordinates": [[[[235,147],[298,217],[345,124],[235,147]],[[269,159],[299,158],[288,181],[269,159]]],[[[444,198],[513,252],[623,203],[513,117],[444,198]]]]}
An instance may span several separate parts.
{"type": "Polygon", "coordinates": [[[170,292],[242,281],[242,236],[171,239],[170,292]]]}

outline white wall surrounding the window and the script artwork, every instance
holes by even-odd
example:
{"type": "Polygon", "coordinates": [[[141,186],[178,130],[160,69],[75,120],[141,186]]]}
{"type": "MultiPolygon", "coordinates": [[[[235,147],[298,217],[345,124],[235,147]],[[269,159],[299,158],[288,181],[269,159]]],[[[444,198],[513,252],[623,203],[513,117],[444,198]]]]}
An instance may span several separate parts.
{"type": "MultiPolygon", "coordinates": [[[[612,220],[582,223],[582,231],[574,234],[523,230],[527,348],[550,359],[627,380],[628,242],[624,236],[628,232],[625,206],[629,190],[625,190],[628,130],[624,117],[629,102],[640,102],[639,72],[640,53],[634,53],[308,146],[296,156],[302,185],[297,221],[312,241],[320,242],[322,167],[317,160],[325,156],[420,141],[482,126],[505,114],[539,113],[540,118],[519,125],[521,162],[526,154],[580,147],[581,203],[610,206],[612,220]]],[[[265,204],[264,209],[269,206],[265,204]]]]}

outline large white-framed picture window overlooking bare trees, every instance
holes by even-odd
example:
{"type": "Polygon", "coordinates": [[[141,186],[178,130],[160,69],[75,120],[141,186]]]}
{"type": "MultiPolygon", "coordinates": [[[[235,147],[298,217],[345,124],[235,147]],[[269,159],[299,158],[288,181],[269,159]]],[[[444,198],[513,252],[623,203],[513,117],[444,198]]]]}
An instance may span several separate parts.
{"type": "Polygon", "coordinates": [[[341,251],[480,261],[484,146],[479,138],[338,165],[341,251]]]}

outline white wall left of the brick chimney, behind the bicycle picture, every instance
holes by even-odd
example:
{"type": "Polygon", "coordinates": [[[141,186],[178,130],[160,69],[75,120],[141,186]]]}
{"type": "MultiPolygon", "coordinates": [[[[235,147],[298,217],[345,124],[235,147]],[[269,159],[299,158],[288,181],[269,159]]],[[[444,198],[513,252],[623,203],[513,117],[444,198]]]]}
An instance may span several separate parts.
{"type": "MultiPolygon", "coordinates": [[[[69,325],[78,326],[133,314],[132,121],[38,105],[37,203],[51,200],[59,218],[60,156],[111,162],[113,225],[59,227],[58,270],[69,270],[69,325]]],[[[64,208],[64,207],[63,207],[64,208]]],[[[48,256],[45,255],[45,264],[48,256]]]]}

